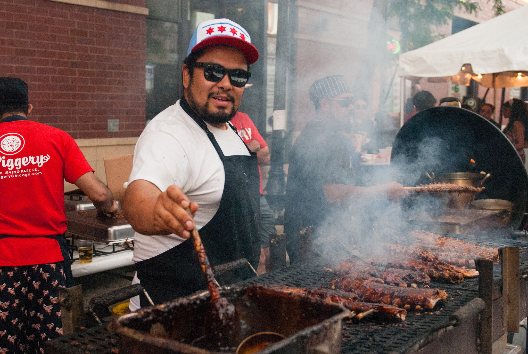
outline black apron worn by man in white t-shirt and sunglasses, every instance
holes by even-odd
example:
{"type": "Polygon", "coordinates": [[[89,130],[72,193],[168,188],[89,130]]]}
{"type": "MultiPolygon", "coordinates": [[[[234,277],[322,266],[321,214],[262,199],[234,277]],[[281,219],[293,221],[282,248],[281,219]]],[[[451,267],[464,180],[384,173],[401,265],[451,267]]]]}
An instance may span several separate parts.
{"type": "MultiPolygon", "coordinates": [[[[181,106],[202,128],[224,166],[225,181],[218,211],[200,230],[211,266],[246,258],[257,268],[260,258],[260,194],[257,154],[224,156],[213,133],[192,111],[185,98],[181,106]]],[[[236,132],[237,130],[231,128],[236,132]]],[[[137,277],[155,304],[206,289],[192,239],[155,257],[136,263],[137,277]]],[[[141,306],[147,306],[140,295],[141,306]]]]}

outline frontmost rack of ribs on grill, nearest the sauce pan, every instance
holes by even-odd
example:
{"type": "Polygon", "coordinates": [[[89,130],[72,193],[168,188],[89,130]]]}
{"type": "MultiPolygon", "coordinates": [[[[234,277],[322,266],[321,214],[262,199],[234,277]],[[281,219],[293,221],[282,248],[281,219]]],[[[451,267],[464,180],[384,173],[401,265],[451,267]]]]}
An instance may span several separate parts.
{"type": "Polygon", "coordinates": [[[328,289],[305,289],[286,285],[262,285],[263,287],[289,294],[307,295],[331,301],[347,308],[352,312],[352,317],[361,320],[368,314],[379,312],[380,314],[405,321],[407,310],[387,304],[373,304],[359,301],[359,296],[354,293],[346,293],[328,289]]]}

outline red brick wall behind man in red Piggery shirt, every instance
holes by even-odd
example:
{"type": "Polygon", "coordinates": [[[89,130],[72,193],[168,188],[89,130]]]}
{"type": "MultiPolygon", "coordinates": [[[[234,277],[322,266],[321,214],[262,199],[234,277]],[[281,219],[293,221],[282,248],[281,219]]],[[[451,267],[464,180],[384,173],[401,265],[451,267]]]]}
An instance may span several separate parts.
{"type": "Polygon", "coordinates": [[[0,75],[26,81],[31,120],[74,139],[137,137],[145,126],[145,26],[144,15],[0,0],[0,75]],[[108,119],[119,119],[119,132],[107,131],[108,119]]]}

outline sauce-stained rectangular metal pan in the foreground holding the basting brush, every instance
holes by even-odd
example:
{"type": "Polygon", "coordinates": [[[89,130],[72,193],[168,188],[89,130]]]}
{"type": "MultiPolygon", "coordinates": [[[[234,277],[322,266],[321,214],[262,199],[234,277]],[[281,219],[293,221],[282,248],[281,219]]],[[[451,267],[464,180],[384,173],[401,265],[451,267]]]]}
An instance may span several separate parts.
{"type": "MultiPolygon", "coordinates": [[[[263,331],[285,335],[260,354],[311,353],[316,348],[328,354],[341,352],[342,320],[350,316],[341,305],[248,285],[224,289],[220,295],[235,305],[240,316],[239,343],[263,331]]],[[[206,319],[209,300],[209,292],[175,299],[123,315],[108,328],[121,333],[120,352],[124,353],[219,352],[217,346],[202,339],[210,331],[206,319]]]]}

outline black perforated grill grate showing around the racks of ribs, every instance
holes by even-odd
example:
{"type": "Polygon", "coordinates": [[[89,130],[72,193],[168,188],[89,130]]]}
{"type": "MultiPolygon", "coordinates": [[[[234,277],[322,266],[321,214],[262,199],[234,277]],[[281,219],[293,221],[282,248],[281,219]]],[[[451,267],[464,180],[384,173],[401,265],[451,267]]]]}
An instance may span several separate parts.
{"type": "MultiPolygon", "coordinates": [[[[528,242],[516,240],[489,240],[471,235],[445,234],[448,237],[469,241],[479,246],[487,247],[520,247],[521,272],[528,269],[528,242]],[[497,242],[499,241],[499,242],[497,242]],[[487,244],[486,244],[487,243],[487,244]]],[[[361,249],[361,247],[358,247],[361,249]]],[[[333,267],[339,261],[350,257],[346,254],[336,256],[336,261],[331,262],[318,258],[304,264],[294,264],[281,268],[271,273],[263,274],[247,280],[249,284],[279,284],[305,288],[324,286],[335,278],[335,275],[324,271],[323,267],[333,267]]],[[[501,281],[501,266],[496,265],[495,282],[501,281]]],[[[449,316],[478,296],[478,278],[466,279],[459,284],[444,284],[431,282],[431,288],[443,288],[449,295],[449,301],[438,304],[431,314],[415,314],[410,311],[405,322],[387,320],[373,315],[361,321],[345,321],[342,332],[343,353],[403,353],[414,344],[426,339],[429,331],[436,326],[448,321],[449,316]]],[[[73,333],[45,343],[47,354],[111,354],[112,349],[119,347],[119,337],[106,329],[98,327],[73,333]],[[79,344],[72,345],[72,341],[79,344]],[[84,347],[91,345],[92,347],[84,347]]],[[[114,351],[116,352],[116,351],[114,351]]]]}

